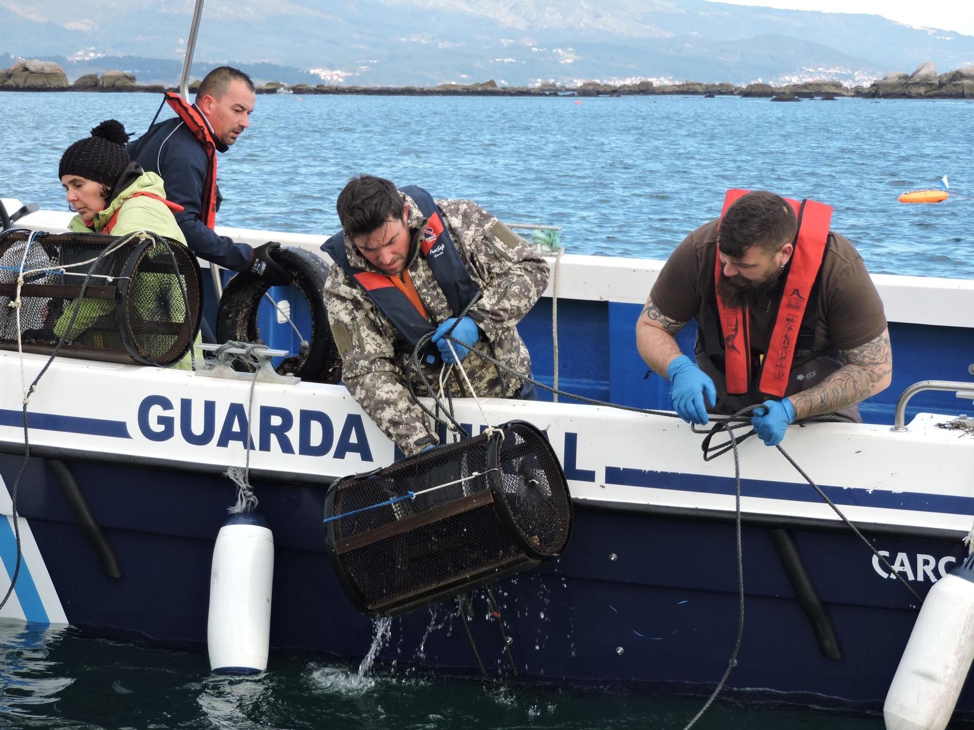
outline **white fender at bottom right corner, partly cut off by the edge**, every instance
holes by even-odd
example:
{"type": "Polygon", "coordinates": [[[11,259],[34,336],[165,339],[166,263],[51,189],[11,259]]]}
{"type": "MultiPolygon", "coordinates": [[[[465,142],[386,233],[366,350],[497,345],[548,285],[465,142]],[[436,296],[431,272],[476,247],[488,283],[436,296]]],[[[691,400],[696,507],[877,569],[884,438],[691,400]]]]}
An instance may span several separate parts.
{"type": "Polygon", "coordinates": [[[882,715],[886,730],[944,730],[974,659],[974,555],[923,601],[882,715]]]}

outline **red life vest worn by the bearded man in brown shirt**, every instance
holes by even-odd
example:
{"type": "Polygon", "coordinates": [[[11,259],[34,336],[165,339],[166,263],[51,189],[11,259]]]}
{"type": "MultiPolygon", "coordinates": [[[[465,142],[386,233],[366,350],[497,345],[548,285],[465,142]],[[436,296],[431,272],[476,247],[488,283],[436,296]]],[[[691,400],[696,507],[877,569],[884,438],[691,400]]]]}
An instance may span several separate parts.
{"type": "MultiPolygon", "coordinates": [[[[750,192],[729,190],[724,199],[721,219],[723,220],[724,214],[734,201],[750,192]]],[[[761,366],[759,385],[761,392],[779,398],[784,397],[788,386],[788,374],[791,372],[792,360],[795,357],[799,328],[805,316],[812,286],[822,267],[825,245],[829,240],[829,224],[832,221],[832,208],[829,205],[807,200],[801,202],[785,200],[795,208],[795,215],[798,217],[798,233],[795,235],[795,250],[789,261],[785,286],[778,303],[774,329],[771,330],[768,352],[765,353],[761,366]]],[[[722,270],[720,250],[718,250],[714,268],[715,286],[720,282],[722,270]]],[[[717,309],[720,311],[724,337],[728,392],[735,395],[743,394],[747,392],[748,383],[751,381],[751,328],[748,313],[746,309],[741,310],[725,305],[720,295],[717,295],[717,309]]]]}

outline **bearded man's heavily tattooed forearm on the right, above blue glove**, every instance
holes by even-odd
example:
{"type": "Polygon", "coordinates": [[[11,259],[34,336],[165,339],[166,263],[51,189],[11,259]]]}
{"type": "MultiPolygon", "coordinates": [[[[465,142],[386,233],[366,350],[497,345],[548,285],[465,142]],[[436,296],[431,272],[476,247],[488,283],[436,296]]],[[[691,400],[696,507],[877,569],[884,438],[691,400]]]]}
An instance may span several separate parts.
{"type": "Polygon", "coordinates": [[[814,387],[788,396],[796,419],[833,413],[876,395],[889,385],[893,356],[888,331],[861,347],[842,350],[842,354],[848,365],[814,387]]]}

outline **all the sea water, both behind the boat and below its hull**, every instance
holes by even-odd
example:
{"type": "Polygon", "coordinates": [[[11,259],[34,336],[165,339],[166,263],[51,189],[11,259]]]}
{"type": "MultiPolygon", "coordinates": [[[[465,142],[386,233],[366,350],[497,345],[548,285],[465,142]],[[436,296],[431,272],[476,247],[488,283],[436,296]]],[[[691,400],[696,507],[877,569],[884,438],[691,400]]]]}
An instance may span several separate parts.
{"type": "MultiPolygon", "coordinates": [[[[145,128],[143,94],[0,93],[0,196],[64,208],[57,162],[109,117],[145,128]]],[[[572,252],[664,258],[728,187],[835,206],[871,271],[974,275],[974,201],[901,205],[947,174],[974,195],[968,101],[696,97],[261,96],[220,158],[220,222],[320,234],[349,176],[373,172],[506,220],[564,226],[572,252]]],[[[746,641],[746,633],[745,633],[746,641]]],[[[728,639],[729,651],[731,638],[728,639]]],[[[0,624],[0,726],[43,728],[680,728],[700,698],[581,694],[293,655],[251,679],[206,657],[0,624]]],[[[715,677],[717,679],[717,677],[715,677]]],[[[697,727],[881,728],[876,716],[718,703],[697,727]]]]}

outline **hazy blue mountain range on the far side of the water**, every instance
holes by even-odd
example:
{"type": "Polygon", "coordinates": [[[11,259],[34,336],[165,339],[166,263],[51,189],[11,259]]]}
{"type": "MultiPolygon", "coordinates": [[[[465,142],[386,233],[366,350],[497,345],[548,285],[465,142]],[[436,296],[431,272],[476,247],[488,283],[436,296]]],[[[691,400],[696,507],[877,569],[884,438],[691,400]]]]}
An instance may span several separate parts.
{"type": "MultiPolygon", "coordinates": [[[[119,68],[171,85],[193,5],[0,0],[0,54],[59,60],[69,78],[119,68]]],[[[974,37],[709,0],[209,0],[195,60],[197,76],[233,63],[290,84],[853,83],[925,60],[941,71],[974,62],[974,37]]]]}

